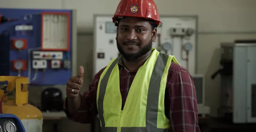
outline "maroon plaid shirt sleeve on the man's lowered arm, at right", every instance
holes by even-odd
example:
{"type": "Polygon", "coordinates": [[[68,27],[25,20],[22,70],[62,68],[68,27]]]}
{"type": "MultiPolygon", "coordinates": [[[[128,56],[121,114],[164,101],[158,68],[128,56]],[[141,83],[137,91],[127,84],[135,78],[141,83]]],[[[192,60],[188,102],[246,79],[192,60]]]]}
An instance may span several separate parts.
{"type": "Polygon", "coordinates": [[[176,72],[168,86],[170,132],[200,132],[196,90],[190,73],[176,72]]]}

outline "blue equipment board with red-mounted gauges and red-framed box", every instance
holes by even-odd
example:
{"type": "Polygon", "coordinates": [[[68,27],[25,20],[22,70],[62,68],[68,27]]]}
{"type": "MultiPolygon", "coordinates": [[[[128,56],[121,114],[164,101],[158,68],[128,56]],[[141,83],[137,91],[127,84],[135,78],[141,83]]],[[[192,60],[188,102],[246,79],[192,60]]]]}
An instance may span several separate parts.
{"type": "MultiPolygon", "coordinates": [[[[0,8],[0,16],[8,19],[15,19],[13,22],[1,23],[0,20],[0,76],[26,76],[29,77],[30,85],[58,85],[65,84],[71,77],[71,51],[72,51],[72,10],[27,10],[27,9],[10,9],[0,8]],[[66,37],[68,48],[65,50],[38,49],[42,48],[42,25],[43,14],[66,14],[67,19],[66,37]],[[18,40],[18,41],[17,41],[18,40]],[[15,44],[14,44],[15,41],[15,44]],[[23,43],[20,43],[23,42],[23,43]],[[21,46],[21,49],[15,49],[14,46],[21,46]],[[37,50],[37,53],[33,53],[37,50]],[[41,53],[44,52],[45,54],[41,53]],[[47,53],[46,53],[47,52],[47,53]],[[55,53],[61,52],[62,59],[55,53]],[[29,54],[30,53],[30,54],[29,54]],[[47,68],[35,70],[34,64],[39,65],[38,58],[35,55],[54,59],[45,59],[40,61],[40,65],[47,63],[47,68]],[[17,60],[19,63],[17,63],[17,60]],[[54,64],[53,64],[54,63],[54,64]],[[54,65],[61,65],[60,68],[54,68],[54,65]],[[65,66],[68,68],[65,68],[65,66]],[[20,68],[17,70],[17,67],[20,68]],[[16,68],[16,69],[15,69],[16,68]],[[35,78],[33,80],[33,78],[35,78]],[[32,79],[32,80],[31,80],[32,79]]],[[[57,26],[50,29],[57,28],[57,26]]],[[[61,28],[60,28],[61,29],[61,28]]],[[[64,32],[64,31],[63,31],[64,32]]],[[[50,36],[61,35],[61,33],[47,34],[50,36]]],[[[55,39],[56,37],[53,37],[55,39]]],[[[41,59],[42,60],[42,59],[41,59]]],[[[39,67],[40,67],[39,65],[39,67]]]]}

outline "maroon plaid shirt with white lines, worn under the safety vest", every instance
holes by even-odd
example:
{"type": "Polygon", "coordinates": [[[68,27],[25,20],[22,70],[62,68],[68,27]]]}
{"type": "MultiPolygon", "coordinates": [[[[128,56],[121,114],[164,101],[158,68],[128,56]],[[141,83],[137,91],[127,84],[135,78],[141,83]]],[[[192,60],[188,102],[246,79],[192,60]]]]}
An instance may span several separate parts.
{"type": "MultiPolygon", "coordinates": [[[[131,87],[132,81],[138,71],[128,71],[123,60],[118,62],[120,69],[120,92],[122,96],[122,109],[131,87]]],[[[91,123],[98,114],[96,96],[101,69],[95,76],[89,90],[82,95],[81,106],[78,112],[71,117],[64,103],[64,112],[69,120],[80,123],[91,123]]],[[[66,99],[67,100],[67,99],[66,99]]],[[[170,132],[200,132],[198,126],[198,113],[196,90],[192,76],[182,66],[172,62],[169,68],[165,90],[165,116],[170,120],[170,132]]]]}

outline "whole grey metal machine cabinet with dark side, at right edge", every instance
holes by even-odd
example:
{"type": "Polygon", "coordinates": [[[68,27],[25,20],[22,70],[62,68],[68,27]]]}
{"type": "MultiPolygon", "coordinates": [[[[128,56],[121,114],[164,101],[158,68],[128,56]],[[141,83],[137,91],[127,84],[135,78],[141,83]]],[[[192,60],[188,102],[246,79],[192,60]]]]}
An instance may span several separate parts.
{"type": "Polygon", "coordinates": [[[234,123],[256,122],[256,40],[221,43],[220,116],[233,116],[234,123]]]}

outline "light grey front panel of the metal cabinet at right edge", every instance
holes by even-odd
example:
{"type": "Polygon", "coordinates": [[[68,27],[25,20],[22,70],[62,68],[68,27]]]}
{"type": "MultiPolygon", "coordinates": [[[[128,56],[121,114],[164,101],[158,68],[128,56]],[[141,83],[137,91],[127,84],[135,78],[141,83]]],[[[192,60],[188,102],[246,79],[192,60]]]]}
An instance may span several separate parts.
{"type": "Polygon", "coordinates": [[[256,106],[252,102],[252,85],[256,84],[253,67],[256,65],[256,43],[234,44],[233,50],[233,122],[255,123],[256,117],[252,117],[253,105],[256,106]]]}

